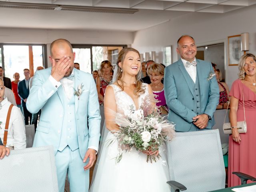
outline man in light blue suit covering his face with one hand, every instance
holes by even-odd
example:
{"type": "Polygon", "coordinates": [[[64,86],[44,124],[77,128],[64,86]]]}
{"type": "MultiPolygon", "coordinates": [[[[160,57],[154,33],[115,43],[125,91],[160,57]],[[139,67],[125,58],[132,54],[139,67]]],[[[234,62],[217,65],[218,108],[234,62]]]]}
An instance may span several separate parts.
{"type": "Polygon", "coordinates": [[[42,109],[33,147],[54,146],[60,192],[67,173],[70,192],[86,192],[100,138],[96,85],[91,74],[74,68],[67,40],[52,42],[50,55],[52,68],[36,72],[26,102],[33,114],[42,109]]]}

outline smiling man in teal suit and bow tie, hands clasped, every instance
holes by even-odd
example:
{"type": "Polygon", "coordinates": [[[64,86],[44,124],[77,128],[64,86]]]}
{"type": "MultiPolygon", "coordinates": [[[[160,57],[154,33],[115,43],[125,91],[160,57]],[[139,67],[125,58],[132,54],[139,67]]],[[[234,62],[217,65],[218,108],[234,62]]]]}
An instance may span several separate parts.
{"type": "Polygon", "coordinates": [[[191,36],[181,36],[177,44],[181,59],[164,72],[168,120],[179,132],[211,129],[220,97],[212,64],[195,58],[197,49],[191,36]]]}

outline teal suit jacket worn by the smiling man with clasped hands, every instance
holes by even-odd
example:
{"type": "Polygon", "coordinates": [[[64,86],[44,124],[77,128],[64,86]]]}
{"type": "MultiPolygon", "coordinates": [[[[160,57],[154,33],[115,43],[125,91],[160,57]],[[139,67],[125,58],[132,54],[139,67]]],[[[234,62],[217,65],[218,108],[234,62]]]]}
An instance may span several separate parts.
{"type": "MultiPolygon", "coordinates": [[[[214,76],[207,80],[212,71],[212,64],[203,60],[196,59],[197,77],[200,88],[200,114],[208,114],[209,120],[206,129],[214,126],[214,112],[219,103],[219,87],[214,76]]],[[[181,59],[167,66],[164,71],[164,95],[166,104],[169,107],[168,120],[174,122],[175,130],[187,132],[192,126],[192,118],[196,116],[196,100],[194,95],[194,85],[189,79],[190,76],[185,69],[181,59]]]]}

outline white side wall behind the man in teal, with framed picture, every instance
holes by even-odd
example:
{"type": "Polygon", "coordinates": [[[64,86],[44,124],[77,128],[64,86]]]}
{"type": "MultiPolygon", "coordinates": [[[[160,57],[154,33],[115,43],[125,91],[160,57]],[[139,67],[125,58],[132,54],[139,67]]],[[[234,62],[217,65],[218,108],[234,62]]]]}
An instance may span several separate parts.
{"type": "Polygon", "coordinates": [[[231,86],[237,79],[238,67],[228,66],[228,36],[249,32],[250,53],[256,54],[256,5],[238,9],[225,14],[192,12],[174,18],[169,22],[140,30],[134,34],[133,48],[139,52],[156,51],[156,62],[162,62],[162,47],[172,45],[172,61],[178,60],[176,42],[183,34],[194,37],[196,44],[208,42],[225,42],[226,82],[231,86]]]}

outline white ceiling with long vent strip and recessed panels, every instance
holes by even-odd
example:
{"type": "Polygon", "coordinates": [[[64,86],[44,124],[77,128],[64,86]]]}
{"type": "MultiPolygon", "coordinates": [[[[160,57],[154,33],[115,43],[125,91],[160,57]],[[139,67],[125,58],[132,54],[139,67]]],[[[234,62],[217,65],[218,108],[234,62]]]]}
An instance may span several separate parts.
{"type": "Polygon", "coordinates": [[[191,12],[224,14],[253,4],[256,0],[5,0],[0,27],[137,31],[191,12]],[[116,13],[126,10],[134,13],[116,13]]]}

